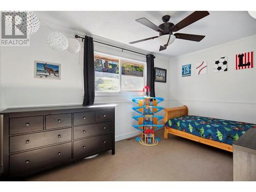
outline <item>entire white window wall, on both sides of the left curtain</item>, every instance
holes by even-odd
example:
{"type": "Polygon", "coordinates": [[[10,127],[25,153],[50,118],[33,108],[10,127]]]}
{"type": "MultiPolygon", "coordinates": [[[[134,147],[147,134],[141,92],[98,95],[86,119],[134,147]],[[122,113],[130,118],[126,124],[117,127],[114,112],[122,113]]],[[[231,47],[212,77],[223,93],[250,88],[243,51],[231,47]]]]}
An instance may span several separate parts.
{"type": "MultiPolygon", "coordinates": [[[[46,44],[46,37],[51,30],[44,25],[30,37],[29,47],[2,48],[2,89],[3,108],[36,105],[81,104],[83,100],[82,53],[72,54],[68,51],[56,51],[46,44]],[[34,60],[61,64],[61,80],[34,78],[34,60]]],[[[60,31],[61,32],[61,31],[60,31]]],[[[67,37],[74,37],[63,32],[67,37]]],[[[123,47],[125,48],[125,47],[123,47]]],[[[95,43],[95,51],[146,61],[145,57],[121,52],[119,49],[101,46],[95,43]]],[[[82,52],[82,51],[81,51],[82,52]]],[[[156,55],[155,66],[167,69],[169,59],[156,55]]],[[[167,82],[168,82],[167,76],[167,82]]],[[[169,84],[156,82],[156,96],[169,98],[169,84]]],[[[133,103],[136,94],[101,94],[95,97],[96,103],[117,103],[116,108],[116,140],[136,135],[132,124],[133,103]]],[[[168,105],[166,100],[164,105],[168,105]]]]}

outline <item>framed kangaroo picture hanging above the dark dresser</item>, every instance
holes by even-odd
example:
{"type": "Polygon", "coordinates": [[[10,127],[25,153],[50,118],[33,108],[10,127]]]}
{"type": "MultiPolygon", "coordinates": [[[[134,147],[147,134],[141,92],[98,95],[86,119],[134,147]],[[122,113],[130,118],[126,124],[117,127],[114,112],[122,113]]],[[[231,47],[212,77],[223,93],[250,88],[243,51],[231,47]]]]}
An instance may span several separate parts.
{"type": "Polygon", "coordinates": [[[60,79],[60,64],[45,61],[34,61],[34,77],[60,79]]]}

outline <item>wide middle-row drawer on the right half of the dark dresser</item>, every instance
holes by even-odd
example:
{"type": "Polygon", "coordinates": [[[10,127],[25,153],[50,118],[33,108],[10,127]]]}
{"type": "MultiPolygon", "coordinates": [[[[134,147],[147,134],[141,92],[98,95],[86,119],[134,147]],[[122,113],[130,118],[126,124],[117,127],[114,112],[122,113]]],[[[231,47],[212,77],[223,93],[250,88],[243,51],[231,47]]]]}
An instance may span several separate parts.
{"type": "Polygon", "coordinates": [[[113,131],[112,121],[74,127],[74,139],[105,134],[113,131]]]}

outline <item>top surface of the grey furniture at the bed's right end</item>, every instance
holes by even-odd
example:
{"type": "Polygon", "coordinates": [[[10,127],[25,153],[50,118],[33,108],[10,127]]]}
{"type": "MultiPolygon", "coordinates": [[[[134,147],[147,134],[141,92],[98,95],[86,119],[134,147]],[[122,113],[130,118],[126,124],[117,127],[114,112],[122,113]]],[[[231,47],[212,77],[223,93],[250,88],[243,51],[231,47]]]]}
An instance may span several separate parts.
{"type": "Polygon", "coordinates": [[[242,135],[233,145],[238,145],[251,150],[256,150],[256,129],[251,128],[244,135],[242,135]]]}

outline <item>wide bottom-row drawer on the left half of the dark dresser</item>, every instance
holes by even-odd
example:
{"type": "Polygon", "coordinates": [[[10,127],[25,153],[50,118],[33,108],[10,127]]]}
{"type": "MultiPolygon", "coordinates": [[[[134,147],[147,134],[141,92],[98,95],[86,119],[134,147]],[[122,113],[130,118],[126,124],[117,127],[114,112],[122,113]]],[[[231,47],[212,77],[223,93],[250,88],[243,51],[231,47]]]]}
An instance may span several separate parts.
{"type": "Polygon", "coordinates": [[[33,169],[69,160],[71,155],[71,142],[10,155],[10,174],[22,174],[33,169]]]}

